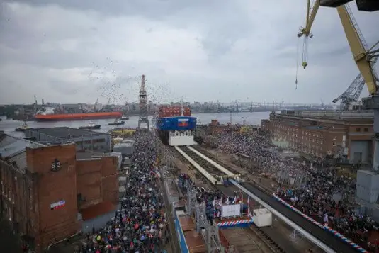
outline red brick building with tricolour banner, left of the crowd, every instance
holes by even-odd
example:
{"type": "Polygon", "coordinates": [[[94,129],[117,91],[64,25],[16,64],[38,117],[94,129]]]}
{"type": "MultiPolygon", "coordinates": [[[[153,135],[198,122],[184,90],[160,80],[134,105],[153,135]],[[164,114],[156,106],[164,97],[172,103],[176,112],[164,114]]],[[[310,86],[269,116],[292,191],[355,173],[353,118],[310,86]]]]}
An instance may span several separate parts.
{"type": "Polygon", "coordinates": [[[117,157],[77,153],[72,142],[46,145],[4,133],[0,154],[1,215],[36,252],[81,231],[84,220],[103,214],[98,210],[115,209],[117,157]]]}

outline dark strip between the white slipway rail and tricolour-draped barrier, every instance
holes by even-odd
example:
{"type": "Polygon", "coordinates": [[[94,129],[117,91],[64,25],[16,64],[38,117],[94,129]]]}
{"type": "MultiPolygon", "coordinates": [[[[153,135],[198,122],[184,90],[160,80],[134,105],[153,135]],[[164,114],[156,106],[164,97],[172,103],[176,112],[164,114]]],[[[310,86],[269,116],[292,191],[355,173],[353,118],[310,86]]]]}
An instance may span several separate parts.
{"type": "Polygon", "coordinates": [[[313,236],[317,237],[319,240],[327,244],[329,247],[334,249],[336,252],[343,253],[356,253],[356,249],[353,249],[348,244],[342,242],[339,238],[334,237],[330,232],[320,229],[316,225],[313,225],[302,216],[298,215],[298,213],[293,212],[289,208],[283,206],[282,203],[276,201],[273,196],[269,196],[267,193],[264,193],[260,189],[256,188],[251,184],[242,184],[246,189],[248,189],[255,196],[261,198],[262,201],[266,202],[272,208],[278,210],[278,212],[285,215],[287,218],[292,220],[294,223],[298,224],[303,229],[310,232],[313,236]]]}

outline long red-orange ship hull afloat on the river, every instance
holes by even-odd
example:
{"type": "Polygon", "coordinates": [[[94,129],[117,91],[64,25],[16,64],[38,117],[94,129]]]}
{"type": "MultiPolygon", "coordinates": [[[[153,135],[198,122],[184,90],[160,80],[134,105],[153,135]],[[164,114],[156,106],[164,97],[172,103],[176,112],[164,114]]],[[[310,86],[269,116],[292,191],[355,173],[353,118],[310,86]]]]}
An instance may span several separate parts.
{"type": "Polygon", "coordinates": [[[67,114],[38,114],[34,116],[38,121],[61,121],[61,120],[96,120],[101,118],[121,118],[123,113],[67,113],[67,114]]]}

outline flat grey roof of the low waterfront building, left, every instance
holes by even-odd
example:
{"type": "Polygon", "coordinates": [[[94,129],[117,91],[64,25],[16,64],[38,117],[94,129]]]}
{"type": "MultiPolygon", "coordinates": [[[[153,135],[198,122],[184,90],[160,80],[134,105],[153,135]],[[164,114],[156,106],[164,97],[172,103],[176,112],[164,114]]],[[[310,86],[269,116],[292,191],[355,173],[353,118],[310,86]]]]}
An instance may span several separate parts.
{"type": "Polygon", "coordinates": [[[27,131],[35,131],[44,135],[50,135],[60,139],[76,138],[84,136],[99,136],[107,135],[106,133],[98,133],[90,130],[83,130],[77,128],[58,127],[58,128],[30,128],[27,131]]]}

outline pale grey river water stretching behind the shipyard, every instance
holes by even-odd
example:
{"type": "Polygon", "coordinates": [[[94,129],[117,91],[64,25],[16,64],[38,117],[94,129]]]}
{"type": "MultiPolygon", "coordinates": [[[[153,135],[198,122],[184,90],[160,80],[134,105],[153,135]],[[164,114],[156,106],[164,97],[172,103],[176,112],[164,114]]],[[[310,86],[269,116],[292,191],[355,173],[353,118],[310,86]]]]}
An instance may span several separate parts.
{"type": "MultiPolygon", "coordinates": [[[[198,118],[198,124],[208,124],[210,120],[217,119],[220,124],[226,124],[230,121],[230,113],[194,113],[194,117],[198,118]]],[[[269,112],[252,112],[252,113],[232,113],[232,123],[246,123],[249,125],[260,125],[262,119],[267,119],[269,112]],[[243,117],[243,118],[242,118],[243,117]]],[[[5,133],[15,136],[23,137],[23,133],[15,132],[15,128],[21,126],[19,120],[7,120],[5,117],[0,121],[0,130],[5,133]]],[[[149,117],[151,122],[152,117],[149,117]]],[[[55,128],[55,127],[69,127],[79,128],[81,125],[87,125],[90,120],[74,120],[74,121],[52,121],[52,122],[38,122],[29,121],[30,128],[55,128]]],[[[95,130],[97,132],[106,133],[113,128],[137,128],[138,116],[131,116],[129,120],[125,120],[125,125],[108,125],[113,122],[113,119],[99,119],[93,120],[94,123],[101,125],[101,129],[95,130]]]]}

